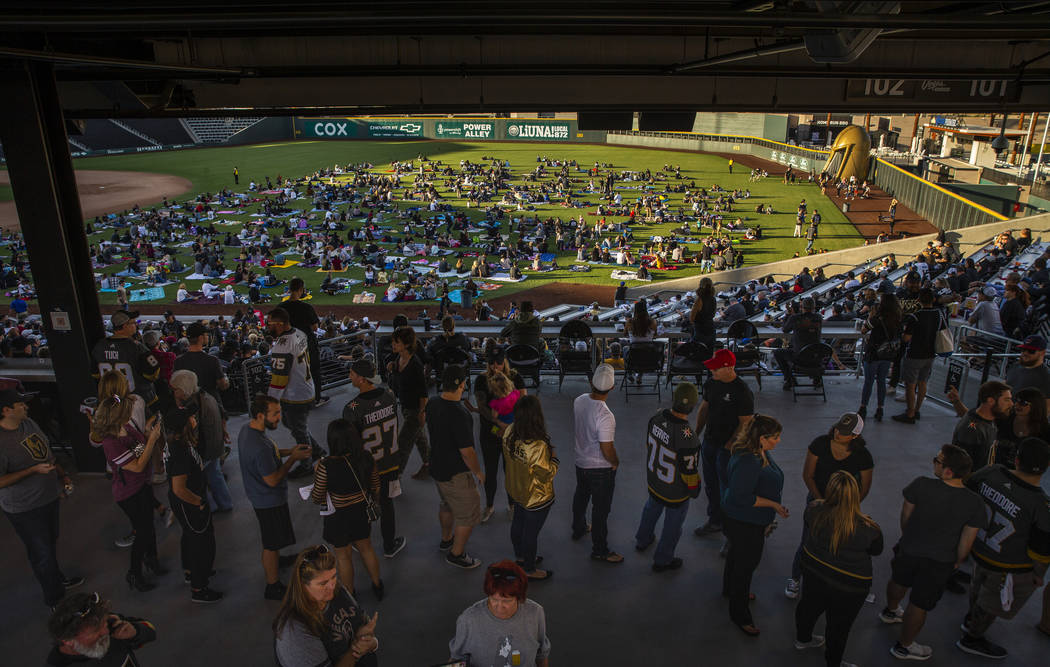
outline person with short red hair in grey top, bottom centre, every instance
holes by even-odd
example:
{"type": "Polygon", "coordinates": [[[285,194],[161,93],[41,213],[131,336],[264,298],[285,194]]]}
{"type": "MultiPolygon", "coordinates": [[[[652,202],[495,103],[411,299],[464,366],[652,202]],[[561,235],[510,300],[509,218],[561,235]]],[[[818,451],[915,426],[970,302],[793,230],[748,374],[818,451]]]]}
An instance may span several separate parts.
{"type": "Polygon", "coordinates": [[[549,667],[550,640],[543,607],[526,597],[528,576],[513,561],[485,571],[485,596],[456,620],[448,643],[452,660],[467,667],[538,665],[549,667]]]}

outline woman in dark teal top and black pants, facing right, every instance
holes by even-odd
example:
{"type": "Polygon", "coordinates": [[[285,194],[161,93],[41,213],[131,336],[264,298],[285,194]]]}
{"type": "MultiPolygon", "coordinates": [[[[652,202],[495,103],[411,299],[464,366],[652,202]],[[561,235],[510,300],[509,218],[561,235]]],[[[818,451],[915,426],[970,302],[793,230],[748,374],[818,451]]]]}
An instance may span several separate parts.
{"type": "Polygon", "coordinates": [[[776,516],[788,518],[780,504],[784,474],[773,460],[783,428],[765,415],[754,415],[732,446],[728,481],[721,495],[722,526],[729,540],[722,597],[729,598],[729,616],[749,637],[759,630],[751,617],[751,578],[762,560],[765,538],[776,526],[776,516]]]}

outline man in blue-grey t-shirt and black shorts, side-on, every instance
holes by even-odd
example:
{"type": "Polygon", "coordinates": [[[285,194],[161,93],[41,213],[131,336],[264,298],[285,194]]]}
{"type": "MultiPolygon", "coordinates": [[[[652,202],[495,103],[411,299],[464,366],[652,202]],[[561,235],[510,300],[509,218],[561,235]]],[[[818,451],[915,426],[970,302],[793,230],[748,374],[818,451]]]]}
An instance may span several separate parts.
{"type": "Polygon", "coordinates": [[[264,597],[267,600],[284,599],[285,584],[280,583],[278,568],[282,560],[289,565],[295,560],[295,556],[280,557],[280,549],[295,544],[292,515],[288,510],[288,472],[296,461],[310,458],[309,444],[279,450],[267,436],[267,431],[275,430],[280,423],[280,401],[276,398],[256,394],[250,407],[251,421],[237,435],[240,478],[262,537],[264,597]]]}

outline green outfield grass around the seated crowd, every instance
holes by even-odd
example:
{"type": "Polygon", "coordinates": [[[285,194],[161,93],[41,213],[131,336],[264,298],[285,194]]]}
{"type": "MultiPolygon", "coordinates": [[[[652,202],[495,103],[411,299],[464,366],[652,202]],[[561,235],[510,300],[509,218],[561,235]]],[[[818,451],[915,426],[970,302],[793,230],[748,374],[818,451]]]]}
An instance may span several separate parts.
{"type": "MultiPolygon", "coordinates": [[[[746,264],[764,264],[791,257],[795,252],[801,252],[805,247],[805,241],[793,238],[792,231],[795,223],[795,209],[801,199],[805,199],[810,204],[810,211],[820,210],[823,223],[820,227],[820,238],[817,248],[827,250],[838,250],[847,247],[858,246],[862,243],[861,236],[854,226],[845,218],[842,212],[820,194],[819,188],[810,184],[784,185],[780,179],[770,178],[756,183],[749,183],[749,170],[737,165],[735,173],[728,173],[726,161],[722,158],[710,154],[670,152],[648,150],[638,148],[625,148],[620,146],[597,146],[597,145],[558,145],[558,144],[512,144],[512,143],[453,143],[453,142],[294,142],[270,145],[242,146],[232,148],[206,148],[195,150],[183,150],[163,153],[142,153],[134,155],[114,155],[106,158],[83,158],[75,161],[77,169],[113,169],[128,171],[152,171],[160,173],[170,173],[184,176],[193,183],[190,193],[180,195],[178,201],[192,199],[201,192],[215,192],[224,187],[234,188],[233,168],[236,166],[240,172],[240,185],[235,191],[247,191],[248,183],[252,180],[262,181],[269,175],[275,178],[280,174],[285,178],[298,178],[313,173],[315,170],[324,167],[332,167],[335,164],[358,164],[370,162],[376,165],[376,170],[383,170],[395,160],[412,160],[418,154],[425,154],[432,160],[442,160],[446,164],[458,168],[460,160],[470,160],[479,162],[482,157],[499,158],[510,161],[511,172],[514,174],[514,182],[521,183],[520,178],[531,171],[537,164],[538,155],[546,155],[556,160],[576,160],[583,167],[593,165],[594,162],[608,163],[616,170],[645,170],[657,171],[665,164],[680,165],[682,176],[686,183],[693,181],[696,185],[711,188],[718,184],[721,187],[733,190],[734,188],[750,188],[752,197],[742,203],[738,203],[736,211],[730,218],[739,216],[746,224],[758,223],[763,230],[764,238],[760,242],[742,242],[739,247],[744,251],[746,264]],[[772,204],[777,211],[773,215],[758,215],[754,213],[757,204],[772,204]]],[[[570,174],[571,175],[571,174],[570,174]]],[[[582,181],[582,189],[588,181],[587,174],[581,172],[574,175],[582,181]]],[[[674,181],[671,181],[673,184],[674,181]]],[[[617,185],[638,185],[637,183],[622,183],[617,185]]],[[[657,184],[658,188],[663,184],[657,184]]],[[[439,188],[440,190],[440,188],[439,188]]],[[[625,201],[639,196],[639,190],[618,190],[623,193],[625,201]]],[[[2,194],[2,193],[0,193],[2,194]]],[[[170,193],[158,192],[159,203],[165,195],[170,193]]],[[[442,192],[445,195],[445,192],[442,192]]],[[[455,193],[452,193],[455,195],[455,193]]],[[[677,209],[681,205],[681,194],[669,194],[671,205],[677,209]]],[[[541,215],[543,217],[555,216],[562,220],[575,217],[584,214],[588,225],[592,225],[596,220],[587,215],[594,211],[598,202],[596,194],[584,195],[585,201],[591,206],[581,209],[564,208],[559,205],[538,206],[534,212],[510,212],[508,217],[520,215],[541,215]]],[[[457,208],[465,206],[464,201],[445,199],[457,208]]],[[[294,202],[293,206],[310,208],[311,202],[300,200],[294,202]]],[[[399,202],[401,208],[408,206],[419,206],[419,202],[399,202]]],[[[252,207],[246,213],[239,215],[216,216],[228,220],[244,222],[249,220],[248,213],[255,212],[252,207]]],[[[464,209],[471,220],[484,217],[482,211],[477,208],[464,209]]],[[[686,207],[688,212],[689,207],[686,207]]],[[[425,216],[425,214],[424,214],[425,216]]],[[[610,222],[626,218],[608,218],[610,222]]],[[[359,221],[351,222],[351,227],[357,227],[359,221]]],[[[390,224],[388,222],[386,224],[390,224]]],[[[634,228],[635,246],[648,241],[651,235],[667,234],[676,225],[645,225],[639,224],[634,228]]],[[[225,231],[232,229],[234,233],[237,226],[218,227],[225,231]]],[[[399,230],[398,230],[399,231],[399,230]]],[[[705,234],[710,233],[705,231],[705,234]]],[[[340,233],[345,238],[345,232],[340,233]]],[[[399,234],[397,234],[399,235],[399,234]]],[[[695,236],[695,234],[693,234],[695,236]]],[[[738,234],[738,236],[742,236],[738,234]]],[[[109,237],[109,232],[93,234],[91,243],[98,243],[109,237]]],[[[512,241],[516,241],[513,238],[512,241]]],[[[553,242],[551,241],[551,246],[553,242]]],[[[695,251],[696,245],[690,245],[690,249],[695,251]]],[[[227,266],[232,268],[236,251],[227,249],[227,266]]],[[[188,259],[188,257],[184,257],[188,259]]],[[[559,265],[569,266],[573,264],[575,253],[564,253],[558,257],[559,265]]],[[[192,264],[192,262],[191,262],[192,264]]],[[[110,273],[125,267],[118,266],[107,268],[105,273],[110,273]]],[[[591,265],[589,273],[570,272],[559,270],[546,273],[532,273],[524,271],[528,279],[519,284],[511,284],[499,290],[484,292],[482,298],[503,296],[523,289],[533,288],[551,280],[581,283],[588,285],[614,285],[616,282],[610,278],[614,266],[591,265]]],[[[622,267],[623,268],[623,267],[622,267]]],[[[324,274],[315,269],[303,269],[292,267],[289,269],[275,269],[274,273],[280,278],[290,278],[299,275],[307,282],[308,289],[314,292],[313,303],[315,305],[351,304],[352,294],[339,294],[328,296],[316,290],[324,274]]],[[[698,273],[698,268],[685,268],[677,271],[659,272],[653,271],[654,282],[680,278],[698,273]]],[[[363,270],[352,268],[349,272],[338,274],[341,277],[362,278],[363,270]]],[[[200,282],[189,282],[190,289],[196,289],[200,282]]],[[[138,287],[138,285],[135,285],[138,287]]],[[[165,301],[150,301],[151,304],[173,303],[176,285],[166,288],[165,301]]],[[[246,293],[244,286],[236,287],[238,293],[246,293]]],[[[362,291],[363,287],[358,286],[355,291],[362,291]]],[[[376,292],[377,303],[382,298],[380,288],[372,288],[376,292]]],[[[271,290],[271,293],[273,290],[271,290]]],[[[103,304],[116,303],[116,297],[111,293],[100,294],[103,304]]]]}

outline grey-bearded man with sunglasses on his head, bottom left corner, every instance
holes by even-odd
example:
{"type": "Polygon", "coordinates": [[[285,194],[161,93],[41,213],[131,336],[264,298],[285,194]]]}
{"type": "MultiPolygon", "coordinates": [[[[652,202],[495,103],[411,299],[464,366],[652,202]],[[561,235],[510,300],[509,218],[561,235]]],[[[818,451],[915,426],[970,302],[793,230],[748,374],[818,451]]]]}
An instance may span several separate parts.
{"type": "Polygon", "coordinates": [[[156,639],[153,624],[144,619],[110,613],[109,602],[97,593],[68,596],[55,607],[47,629],[55,646],[47,664],[139,667],[134,649],[156,639]]]}

